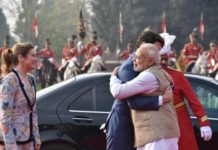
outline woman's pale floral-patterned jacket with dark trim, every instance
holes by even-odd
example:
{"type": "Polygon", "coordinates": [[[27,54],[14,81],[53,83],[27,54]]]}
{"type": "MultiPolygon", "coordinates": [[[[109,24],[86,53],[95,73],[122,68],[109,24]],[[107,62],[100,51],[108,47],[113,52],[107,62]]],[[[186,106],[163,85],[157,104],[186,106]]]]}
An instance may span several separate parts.
{"type": "MultiPolygon", "coordinates": [[[[28,88],[23,82],[31,103],[35,100],[35,89],[28,88]]],[[[0,141],[4,141],[6,149],[17,148],[16,141],[26,141],[30,137],[30,109],[20,88],[19,80],[14,73],[4,77],[0,87],[0,141]],[[5,130],[7,129],[8,130],[5,130]]],[[[40,144],[36,105],[33,107],[33,135],[35,142],[40,144]]]]}

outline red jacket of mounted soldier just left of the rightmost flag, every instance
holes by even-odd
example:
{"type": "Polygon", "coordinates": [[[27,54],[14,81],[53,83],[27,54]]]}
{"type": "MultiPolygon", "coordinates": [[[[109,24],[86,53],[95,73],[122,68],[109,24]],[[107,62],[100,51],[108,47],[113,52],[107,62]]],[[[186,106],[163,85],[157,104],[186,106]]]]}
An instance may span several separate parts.
{"type": "Polygon", "coordinates": [[[186,65],[190,63],[192,60],[197,60],[198,56],[203,53],[203,48],[200,44],[185,44],[184,49],[182,50],[186,65]]]}

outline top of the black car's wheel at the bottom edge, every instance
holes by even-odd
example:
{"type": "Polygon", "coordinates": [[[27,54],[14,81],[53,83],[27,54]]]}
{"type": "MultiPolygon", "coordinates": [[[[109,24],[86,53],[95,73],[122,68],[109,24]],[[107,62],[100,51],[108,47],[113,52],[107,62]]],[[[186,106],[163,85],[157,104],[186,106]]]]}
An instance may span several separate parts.
{"type": "Polygon", "coordinates": [[[72,144],[66,142],[49,142],[43,143],[40,150],[78,150],[72,144]]]}

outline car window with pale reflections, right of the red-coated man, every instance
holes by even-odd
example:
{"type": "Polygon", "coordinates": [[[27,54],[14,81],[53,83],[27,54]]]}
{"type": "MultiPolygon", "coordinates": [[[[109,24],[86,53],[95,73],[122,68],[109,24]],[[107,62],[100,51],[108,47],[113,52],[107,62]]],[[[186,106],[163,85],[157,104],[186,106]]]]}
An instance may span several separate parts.
{"type": "Polygon", "coordinates": [[[218,116],[218,89],[207,84],[191,82],[192,88],[200,99],[209,117],[218,116]]]}

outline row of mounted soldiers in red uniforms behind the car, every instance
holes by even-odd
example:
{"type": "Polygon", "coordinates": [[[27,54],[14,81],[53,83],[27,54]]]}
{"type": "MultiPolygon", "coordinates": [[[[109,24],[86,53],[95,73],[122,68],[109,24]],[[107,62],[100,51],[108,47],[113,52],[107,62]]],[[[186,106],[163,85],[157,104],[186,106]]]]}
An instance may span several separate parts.
{"type": "MultiPolygon", "coordinates": [[[[64,72],[66,66],[69,64],[72,58],[77,59],[78,63],[76,64],[78,68],[83,70],[83,72],[87,72],[88,67],[92,63],[92,59],[95,56],[102,57],[103,50],[101,44],[97,42],[97,33],[93,32],[90,36],[90,41],[81,47],[74,43],[76,36],[67,39],[66,45],[63,47],[62,55],[61,55],[61,64],[55,61],[55,52],[51,48],[51,41],[49,38],[45,40],[45,47],[37,52],[37,56],[39,58],[49,59],[50,62],[54,63],[57,70],[64,72]],[[80,65],[82,64],[82,65],[80,65]]],[[[177,70],[182,72],[188,72],[187,68],[190,67],[193,62],[196,62],[199,56],[204,55],[207,57],[207,74],[211,76],[214,73],[217,73],[218,70],[218,44],[215,40],[212,40],[209,43],[209,50],[204,50],[201,44],[197,42],[197,36],[194,33],[189,35],[189,43],[184,45],[184,48],[181,50],[180,55],[177,57],[176,51],[172,51],[172,53],[168,54],[170,58],[171,67],[174,67],[177,70]]],[[[126,60],[129,55],[131,55],[134,51],[134,42],[129,41],[127,44],[127,48],[124,51],[117,53],[117,57],[119,60],[126,60]]],[[[4,49],[8,48],[8,42],[3,42],[3,47],[0,48],[0,55],[4,49]]],[[[104,54],[111,53],[110,49],[107,48],[104,54]]],[[[107,59],[104,57],[104,59],[107,59]]],[[[38,61],[38,69],[43,66],[42,61],[38,61]]],[[[189,70],[190,71],[190,70],[189,70]]],[[[191,72],[191,71],[190,71],[191,72]]],[[[200,73],[199,73],[200,74],[200,73]]],[[[63,76],[63,75],[62,75],[63,76]]],[[[215,75],[212,75],[215,77],[215,75]]],[[[63,77],[61,77],[63,80],[63,77]]]]}

